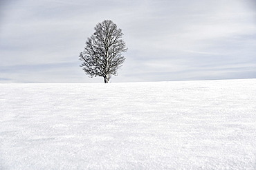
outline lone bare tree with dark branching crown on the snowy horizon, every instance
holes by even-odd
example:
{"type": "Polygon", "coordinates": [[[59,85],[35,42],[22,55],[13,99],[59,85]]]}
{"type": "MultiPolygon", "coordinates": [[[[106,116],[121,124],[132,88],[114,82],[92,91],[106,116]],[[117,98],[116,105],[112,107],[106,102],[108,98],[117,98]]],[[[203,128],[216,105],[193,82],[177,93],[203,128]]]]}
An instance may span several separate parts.
{"type": "Polygon", "coordinates": [[[125,61],[122,52],[127,51],[122,38],[122,30],[111,20],[98,23],[95,32],[86,41],[84,51],[80,52],[81,67],[89,76],[102,76],[108,83],[111,75],[117,76],[118,69],[125,61]]]}

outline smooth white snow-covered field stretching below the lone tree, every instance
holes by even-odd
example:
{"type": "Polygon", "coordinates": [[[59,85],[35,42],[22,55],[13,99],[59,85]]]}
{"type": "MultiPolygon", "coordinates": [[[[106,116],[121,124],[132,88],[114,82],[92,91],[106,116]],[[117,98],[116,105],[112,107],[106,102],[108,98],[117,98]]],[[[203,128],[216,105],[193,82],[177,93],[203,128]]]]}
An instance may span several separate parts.
{"type": "Polygon", "coordinates": [[[256,169],[256,79],[0,84],[0,169],[256,169]]]}

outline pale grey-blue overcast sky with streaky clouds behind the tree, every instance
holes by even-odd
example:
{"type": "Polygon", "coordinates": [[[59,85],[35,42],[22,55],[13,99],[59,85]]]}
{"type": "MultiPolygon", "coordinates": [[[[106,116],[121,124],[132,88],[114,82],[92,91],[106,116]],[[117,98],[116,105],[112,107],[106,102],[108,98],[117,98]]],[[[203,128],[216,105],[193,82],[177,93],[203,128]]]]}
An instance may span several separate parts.
{"type": "Polygon", "coordinates": [[[103,82],[78,55],[104,19],[128,47],[112,83],[256,78],[255,0],[0,0],[0,83],[103,82]]]}

